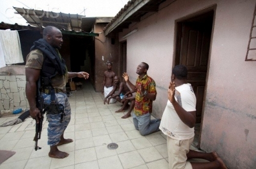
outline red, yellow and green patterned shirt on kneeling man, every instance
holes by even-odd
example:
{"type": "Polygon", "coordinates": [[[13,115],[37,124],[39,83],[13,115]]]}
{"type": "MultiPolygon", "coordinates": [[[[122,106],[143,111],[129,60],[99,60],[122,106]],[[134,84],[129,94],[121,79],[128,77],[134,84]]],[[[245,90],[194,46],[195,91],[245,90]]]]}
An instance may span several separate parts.
{"type": "Polygon", "coordinates": [[[156,91],[156,83],[147,74],[145,74],[141,79],[139,77],[136,80],[136,97],[135,97],[135,106],[134,106],[134,114],[136,116],[141,116],[147,114],[148,112],[152,112],[152,104],[153,100],[148,99],[144,96],[143,93],[140,92],[140,85],[143,85],[145,91],[147,93],[157,94],[156,91]]]}

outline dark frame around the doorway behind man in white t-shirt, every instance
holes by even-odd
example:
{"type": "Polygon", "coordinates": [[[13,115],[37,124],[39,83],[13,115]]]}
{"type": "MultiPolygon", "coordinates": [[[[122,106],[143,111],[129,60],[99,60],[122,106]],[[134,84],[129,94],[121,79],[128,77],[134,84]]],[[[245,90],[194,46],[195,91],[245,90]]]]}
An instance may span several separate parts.
{"type": "Polygon", "coordinates": [[[212,36],[214,33],[214,25],[215,25],[215,17],[216,17],[216,8],[217,5],[212,5],[207,8],[204,8],[200,11],[197,11],[193,14],[186,15],[182,18],[179,18],[175,20],[175,35],[174,35],[174,53],[173,53],[173,68],[175,65],[179,64],[180,57],[178,56],[178,53],[180,53],[180,47],[181,47],[181,40],[178,41],[178,39],[181,37],[181,29],[180,26],[181,22],[186,21],[190,18],[194,18],[198,15],[202,15],[204,13],[207,13],[209,11],[214,11],[214,16],[212,19],[212,29],[211,29],[211,37],[210,37],[210,44],[209,44],[209,53],[208,53],[208,63],[207,63],[207,72],[206,72],[206,78],[205,78],[205,89],[204,89],[204,96],[203,96],[203,103],[202,103],[202,114],[201,114],[201,125],[200,125],[200,132],[199,132],[199,140],[198,140],[198,149],[200,149],[201,144],[201,132],[202,132],[202,126],[203,126],[203,119],[204,119],[204,109],[205,109],[205,99],[206,99],[206,93],[207,93],[207,85],[208,85],[208,77],[209,77],[209,68],[210,68],[210,58],[211,58],[211,47],[212,47],[212,36]]]}

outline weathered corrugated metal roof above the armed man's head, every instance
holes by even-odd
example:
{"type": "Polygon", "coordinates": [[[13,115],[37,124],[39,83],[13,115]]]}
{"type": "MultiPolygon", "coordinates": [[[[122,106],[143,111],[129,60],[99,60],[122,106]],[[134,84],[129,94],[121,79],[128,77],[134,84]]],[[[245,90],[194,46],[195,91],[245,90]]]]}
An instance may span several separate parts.
{"type": "Polygon", "coordinates": [[[13,7],[17,13],[34,26],[55,26],[58,29],[81,31],[81,17],[78,14],[56,13],[44,10],[34,10],[13,7]]]}

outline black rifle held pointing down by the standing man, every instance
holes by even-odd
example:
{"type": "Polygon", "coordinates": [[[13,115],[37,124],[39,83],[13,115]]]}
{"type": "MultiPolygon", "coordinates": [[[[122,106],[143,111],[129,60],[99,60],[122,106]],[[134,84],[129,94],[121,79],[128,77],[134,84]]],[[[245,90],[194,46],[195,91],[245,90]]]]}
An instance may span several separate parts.
{"type": "Polygon", "coordinates": [[[43,111],[44,98],[42,98],[42,96],[41,96],[40,88],[41,88],[41,84],[40,84],[40,77],[39,77],[39,79],[37,80],[37,85],[36,85],[36,107],[40,111],[41,118],[38,117],[39,123],[36,123],[36,125],[35,125],[35,137],[34,137],[35,151],[37,149],[41,149],[40,147],[37,146],[37,141],[38,141],[38,139],[41,138],[42,122],[44,121],[44,111],[43,111]]]}

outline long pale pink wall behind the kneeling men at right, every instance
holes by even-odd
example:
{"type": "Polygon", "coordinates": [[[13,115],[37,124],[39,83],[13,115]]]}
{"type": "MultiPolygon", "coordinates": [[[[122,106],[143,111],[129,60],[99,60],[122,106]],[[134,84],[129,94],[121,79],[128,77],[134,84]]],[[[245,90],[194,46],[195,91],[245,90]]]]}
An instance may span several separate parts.
{"type": "Polygon", "coordinates": [[[201,149],[217,151],[230,168],[256,164],[256,62],[245,62],[255,1],[180,0],[160,5],[160,10],[130,25],[127,73],[133,83],[140,62],[150,65],[156,81],[153,115],[161,117],[173,67],[175,21],[216,6],[203,110],[201,149]]]}

